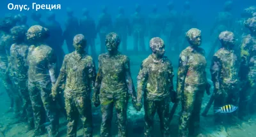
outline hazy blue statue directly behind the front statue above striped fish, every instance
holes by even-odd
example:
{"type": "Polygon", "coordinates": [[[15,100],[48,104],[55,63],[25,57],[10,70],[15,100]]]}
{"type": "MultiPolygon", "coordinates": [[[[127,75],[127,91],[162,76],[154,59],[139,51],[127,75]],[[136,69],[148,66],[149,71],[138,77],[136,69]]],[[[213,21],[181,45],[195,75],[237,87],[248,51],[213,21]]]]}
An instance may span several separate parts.
{"type": "Polygon", "coordinates": [[[215,22],[211,28],[211,36],[213,36],[213,41],[209,54],[207,55],[207,59],[211,60],[214,55],[215,49],[219,49],[221,47],[220,42],[218,40],[218,35],[222,31],[234,31],[234,17],[231,13],[233,2],[226,1],[223,11],[219,12],[217,17],[215,18],[215,22]]]}

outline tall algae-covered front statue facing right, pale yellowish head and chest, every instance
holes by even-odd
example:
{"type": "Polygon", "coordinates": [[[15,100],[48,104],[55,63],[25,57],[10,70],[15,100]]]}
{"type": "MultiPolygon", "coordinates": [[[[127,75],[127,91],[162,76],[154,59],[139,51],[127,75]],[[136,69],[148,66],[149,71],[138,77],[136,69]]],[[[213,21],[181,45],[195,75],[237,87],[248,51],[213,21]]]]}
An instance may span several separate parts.
{"type": "Polygon", "coordinates": [[[205,51],[199,47],[201,31],[196,28],[189,29],[186,39],[189,47],[180,53],[177,75],[177,96],[182,105],[180,137],[188,136],[189,133],[194,134],[195,129],[198,129],[202,99],[207,87],[205,51]]]}

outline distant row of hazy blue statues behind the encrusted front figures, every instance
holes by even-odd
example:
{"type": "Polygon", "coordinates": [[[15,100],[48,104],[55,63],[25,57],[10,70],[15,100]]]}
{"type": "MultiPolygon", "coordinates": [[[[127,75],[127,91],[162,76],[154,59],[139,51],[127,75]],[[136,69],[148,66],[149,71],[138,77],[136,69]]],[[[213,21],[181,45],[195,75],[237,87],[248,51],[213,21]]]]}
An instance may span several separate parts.
{"type": "MultiPolygon", "coordinates": [[[[143,15],[141,12],[140,4],[136,4],[135,12],[131,16],[125,15],[125,10],[122,7],[118,8],[118,15],[113,20],[113,15],[108,13],[108,8],[102,6],[102,13],[99,16],[99,20],[96,22],[95,18],[90,15],[90,11],[86,8],[82,10],[82,17],[77,18],[74,16],[74,11],[71,8],[67,8],[67,19],[65,20],[65,26],[61,28],[60,23],[56,20],[54,13],[47,15],[47,22],[41,20],[42,15],[38,12],[32,13],[31,18],[34,20],[32,25],[41,25],[49,29],[51,36],[48,38],[47,44],[54,49],[57,56],[57,68],[60,69],[61,62],[63,61],[64,51],[62,45],[64,41],[67,44],[68,53],[74,50],[72,45],[72,38],[78,33],[83,34],[88,40],[88,47],[86,52],[90,53],[93,58],[97,59],[99,54],[106,52],[105,36],[109,32],[116,32],[120,38],[122,38],[121,48],[122,52],[130,54],[129,48],[132,49],[133,53],[147,52],[145,47],[146,38],[162,37],[170,47],[166,48],[168,52],[180,53],[186,48],[186,39],[184,34],[188,29],[193,27],[199,27],[197,20],[193,17],[193,12],[190,11],[191,3],[186,1],[184,3],[184,11],[178,13],[175,10],[175,4],[173,2],[167,5],[168,13],[158,13],[157,6],[155,5],[152,9],[152,13],[148,16],[143,15]],[[99,36],[99,43],[95,40],[99,36]],[[132,37],[131,47],[127,47],[129,43],[128,36],[132,37]],[[177,41],[180,41],[179,43],[177,41]],[[97,49],[100,49],[99,53],[97,49]]],[[[207,52],[207,60],[211,60],[212,55],[217,48],[220,48],[218,43],[218,34],[222,31],[232,31],[234,34],[242,35],[238,39],[241,41],[243,36],[248,33],[248,30],[241,29],[243,22],[248,17],[256,15],[255,6],[245,8],[241,13],[241,18],[236,18],[232,15],[233,3],[227,1],[224,3],[223,11],[220,11],[214,19],[213,26],[210,30],[212,43],[207,52]],[[218,46],[216,46],[218,45],[218,46]]],[[[207,49],[208,50],[208,49],[207,49]]]]}

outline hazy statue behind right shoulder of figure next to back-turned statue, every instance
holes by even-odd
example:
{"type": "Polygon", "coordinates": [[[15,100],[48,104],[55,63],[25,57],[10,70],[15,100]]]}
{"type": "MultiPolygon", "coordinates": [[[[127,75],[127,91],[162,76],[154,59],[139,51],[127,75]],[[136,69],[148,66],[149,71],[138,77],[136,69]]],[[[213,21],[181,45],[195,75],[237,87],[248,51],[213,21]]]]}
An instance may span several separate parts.
{"type": "Polygon", "coordinates": [[[89,47],[93,59],[97,59],[95,39],[97,38],[96,24],[93,18],[89,15],[90,11],[87,8],[83,9],[83,17],[79,20],[80,33],[84,35],[86,39],[85,51],[89,53],[89,47]]]}

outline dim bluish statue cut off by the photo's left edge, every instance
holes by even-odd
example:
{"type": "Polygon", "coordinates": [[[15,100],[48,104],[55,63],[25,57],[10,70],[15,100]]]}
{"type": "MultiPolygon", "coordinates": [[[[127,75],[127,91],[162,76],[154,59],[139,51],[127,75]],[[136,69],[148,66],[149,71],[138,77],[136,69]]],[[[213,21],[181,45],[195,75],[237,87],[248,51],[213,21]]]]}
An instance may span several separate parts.
{"type": "Polygon", "coordinates": [[[14,91],[12,80],[10,78],[10,47],[13,43],[12,36],[10,34],[10,29],[14,27],[16,24],[12,15],[7,15],[0,22],[0,78],[3,84],[4,90],[8,94],[10,99],[10,108],[8,112],[12,112],[13,108],[15,109],[15,115],[19,117],[20,105],[19,101],[15,101],[18,99],[17,92],[14,91]]]}

